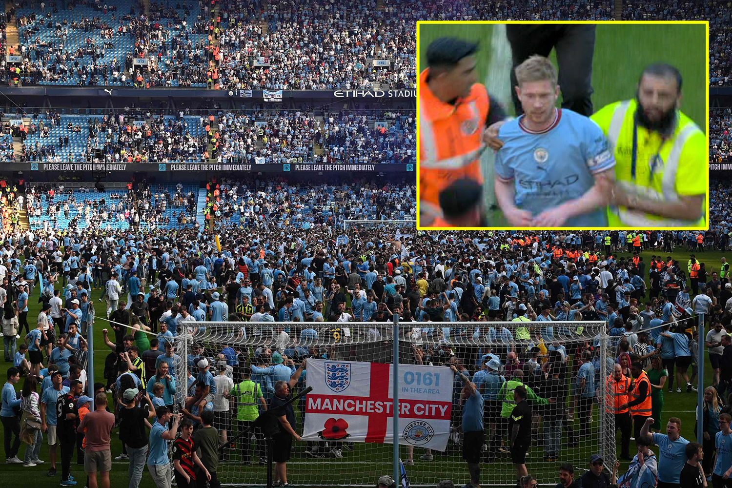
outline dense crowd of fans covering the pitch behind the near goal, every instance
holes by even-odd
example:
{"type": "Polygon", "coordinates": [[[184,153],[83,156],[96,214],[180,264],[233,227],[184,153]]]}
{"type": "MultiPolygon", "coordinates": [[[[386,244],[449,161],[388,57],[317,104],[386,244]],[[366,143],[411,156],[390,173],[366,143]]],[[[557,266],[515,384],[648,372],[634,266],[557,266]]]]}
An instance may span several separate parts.
{"type": "MultiPolygon", "coordinates": [[[[291,187],[273,191],[277,186],[275,182],[263,181],[255,189],[275,195],[271,199],[275,202],[283,194],[299,195],[291,187]]],[[[223,205],[242,198],[253,206],[261,203],[265,209],[262,214],[272,209],[269,202],[255,197],[255,189],[228,181],[212,188],[212,196],[219,198],[223,205]]],[[[386,193],[386,189],[366,184],[359,184],[359,188],[361,192],[354,192],[351,198],[370,199],[377,206],[386,193]]],[[[321,189],[314,191],[317,198],[321,189]]],[[[345,188],[337,191],[343,192],[341,196],[350,194],[345,188]]],[[[412,191],[409,189],[405,196],[411,196],[412,191]]],[[[720,418],[722,409],[728,408],[724,394],[732,380],[729,378],[732,363],[724,361],[732,361],[732,346],[729,336],[722,332],[730,326],[732,318],[728,268],[722,260],[719,272],[707,272],[693,256],[688,263],[666,258],[674,247],[683,249],[690,244],[697,255],[709,246],[724,248],[727,236],[721,232],[430,235],[411,231],[405,234],[395,225],[354,226],[343,231],[330,222],[323,222],[299,228],[283,223],[288,217],[277,210],[269,214],[269,219],[269,225],[224,226],[217,230],[216,241],[210,234],[196,229],[173,230],[165,236],[134,229],[104,235],[94,229],[75,233],[48,229],[6,234],[12,241],[5,241],[12,244],[4,248],[0,270],[6,277],[5,303],[10,304],[7,309],[11,318],[17,317],[16,329],[10,331],[12,334],[5,334],[7,357],[18,359],[19,371],[28,378],[47,382],[40,399],[45,405],[40,416],[42,425],[51,425],[56,409],[50,403],[58,397],[52,390],[61,391],[62,380],[69,383],[73,402],[80,402],[75,397],[81,397],[81,405],[88,401],[83,392],[97,394],[99,388],[102,392],[108,388],[115,402],[134,404],[138,401],[135,399],[138,391],[142,391],[142,382],[146,381],[144,388],[152,396],[139,401],[160,407],[182,405],[180,411],[186,418],[203,425],[195,427],[195,432],[213,424],[223,444],[225,432],[234,435],[237,429],[247,425],[244,424],[247,418],[237,416],[242,422],[234,424],[232,416],[223,413],[229,407],[220,403],[220,397],[227,392],[231,394],[234,384],[254,381],[261,388],[266,405],[277,405],[278,395],[283,395],[280,380],[289,380],[292,387],[301,386],[299,373],[302,369],[307,371],[307,357],[363,359],[369,348],[358,345],[389,340],[389,327],[385,323],[394,314],[400,315],[404,339],[411,344],[404,352],[404,361],[448,363],[458,372],[457,384],[463,375],[469,375],[481,394],[485,394],[486,415],[490,414],[487,418],[494,419],[488,424],[496,424],[490,426],[487,437],[486,454],[490,457],[497,458],[509,450],[504,430],[507,425],[497,419],[507,418],[505,412],[515,405],[509,393],[518,386],[532,391],[535,408],[544,416],[543,424],[537,424],[534,429],[534,438],[543,434],[545,459],[549,461],[566,454],[566,449],[572,448],[575,442],[588,442],[591,419],[597,418],[593,417],[593,410],[613,408],[594,402],[598,388],[609,379],[600,378],[603,367],[608,375],[611,372],[615,375],[613,369],[619,369],[620,377],[634,378],[637,383],[643,383],[643,378],[648,376],[650,384],[660,384],[661,393],[668,388],[669,394],[673,394],[674,380],[676,394],[682,394],[681,388],[691,391],[694,370],[689,375],[688,367],[694,364],[695,341],[701,338],[695,337],[692,322],[684,319],[695,312],[709,314],[710,323],[717,327],[710,334],[722,334],[719,346],[722,362],[714,372],[716,388],[710,393],[709,416],[720,418]],[[348,237],[345,243],[338,238],[342,232],[348,237]],[[220,251],[217,244],[221,246],[220,251]],[[657,257],[643,260],[638,255],[641,250],[654,252],[657,257]],[[18,259],[20,253],[26,256],[23,263],[18,259]],[[624,255],[619,257],[619,253],[624,255]],[[37,283],[40,285],[36,287],[37,283]],[[94,293],[95,288],[100,291],[94,293]],[[42,309],[50,313],[48,319],[45,313],[39,315],[37,328],[32,320],[29,323],[26,312],[29,298],[35,300],[35,296],[42,299],[42,309]],[[106,307],[93,312],[97,299],[106,299],[106,307]],[[105,369],[106,383],[84,385],[79,364],[83,362],[86,348],[83,340],[86,324],[95,318],[101,321],[105,316],[113,320],[109,332],[105,330],[105,344],[113,350],[105,369]],[[197,326],[202,320],[222,322],[222,325],[197,326]],[[224,324],[226,320],[237,324],[224,324]],[[512,320],[512,325],[491,326],[495,320],[512,320]],[[526,320],[545,321],[546,325],[523,326],[526,320]],[[554,320],[577,325],[565,323],[556,327],[550,324],[554,320]],[[606,326],[595,331],[586,327],[586,322],[580,322],[587,320],[604,320],[606,326]],[[247,325],[249,321],[257,323],[247,325]],[[261,322],[267,321],[276,323],[272,327],[262,326],[261,322]],[[343,336],[345,323],[351,321],[373,325],[354,325],[349,329],[350,335],[343,336]],[[449,325],[458,321],[474,322],[474,326],[449,325]],[[447,324],[435,326],[435,322],[447,324]],[[25,343],[18,346],[20,356],[15,356],[15,331],[25,343]],[[175,356],[174,337],[182,331],[194,334],[194,344],[189,357],[179,361],[175,356]],[[594,336],[596,332],[605,332],[610,337],[610,364],[600,364],[600,336],[594,336]],[[348,347],[340,347],[338,340],[343,340],[343,345],[348,347]],[[58,348],[53,348],[56,344],[58,348]],[[30,351],[27,359],[26,348],[30,351]],[[654,359],[659,356],[660,362],[654,359]],[[689,361],[681,361],[686,357],[689,361]],[[582,364],[582,367],[577,372],[570,371],[568,358],[572,364],[582,364]],[[676,371],[673,358],[676,358],[676,371]],[[295,370],[298,364],[300,367],[295,370]],[[218,372],[215,378],[222,376],[229,380],[215,379],[209,372],[209,367],[214,365],[218,372]],[[56,368],[60,371],[58,380],[56,368]],[[184,382],[180,375],[186,374],[188,381],[184,382]],[[496,375],[497,378],[491,378],[496,375]],[[665,378],[665,383],[655,383],[657,377],[665,378]],[[504,386],[502,390],[501,386],[504,386]],[[135,389],[138,391],[130,392],[135,389]],[[568,407],[564,407],[565,398],[572,400],[568,407]],[[213,418],[204,415],[209,409],[214,410],[213,418]],[[567,436],[561,436],[563,429],[569,432],[567,436]]],[[[712,339],[707,336],[706,340],[717,347],[714,336],[712,339]]],[[[374,350],[378,353],[381,348],[374,350]]],[[[29,383],[29,388],[33,389],[33,384],[29,383]]],[[[640,392],[636,388],[633,394],[641,395],[641,400],[646,401],[644,398],[650,391],[640,392]]],[[[240,401],[236,395],[231,396],[234,401],[240,401]]],[[[629,401],[630,398],[635,397],[629,397],[629,401]]],[[[659,397],[651,398],[651,403],[656,409],[653,416],[660,422],[652,428],[663,429],[668,418],[663,414],[659,397]]],[[[631,406],[635,438],[642,440],[641,424],[646,424],[650,415],[635,410],[635,405],[638,404],[631,406]]],[[[458,395],[453,405],[456,429],[460,426],[461,408],[466,407],[458,395]]],[[[123,451],[119,459],[130,459],[131,472],[139,474],[144,457],[138,457],[135,451],[138,446],[126,437],[130,419],[120,413],[121,408],[111,410],[116,410],[122,422],[122,438],[127,443],[127,454],[123,451]]],[[[301,408],[297,410],[302,413],[301,408]]],[[[156,413],[161,427],[151,422],[153,428],[149,435],[142,431],[143,438],[149,439],[151,453],[159,442],[158,431],[165,430],[164,424],[169,419],[168,410],[157,409],[156,413]]],[[[295,419],[293,413],[293,432],[302,432],[302,415],[295,419]]],[[[675,422],[673,418],[671,422],[675,422]]],[[[64,427],[68,426],[64,424],[64,427]]],[[[646,425],[646,429],[649,427],[646,425]]],[[[625,438],[626,425],[618,424],[618,428],[625,438]]],[[[706,428],[712,437],[721,430],[714,421],[706,428]]],[[[5,424],[5,432],[6,456],[10,462],[23,462],[15,457],[17,445],[10,443],[10,424],[5,424]]],[[[65,433],[61,432],[59,422],[53,434],[60,439],[61,454],[64,448],[69,448],[68,439],[61,437],[65,433]]],[[[297,438],[296,433],[294,437],[297,438]]],[[[451,439],[455,448],[459,448],[460,436],[451,439]]],[[[53,440],[49,438],[48,442],[53,440]]],[[[237,447],[244,452],[219,449],[220,444],[216,443],[214,459],[203,464],[212,473],[211,463],[215,465],[227,455],[239,459],[241,453],[247,459],[249,456],[256,459],[261,452],[261,438],[256,443],[257,448],[249,443],[237,447]]],[[[36,455],[33,445],[31,442],[26,454],[26,465],[38,464],[33,457],[36,455]]],[[[621,457],[630,458],[627,443],[623,441],[620,447],[621,457]]],[[[641,444],[641,447],[647,446],[641,444]]],[[[707,442],[703,449],[704,457],[712,458],[714,445],[707,442]]],[[[313,457],[348,455],[348,448],[337,442],[296,444],[296,451],[313,457]]],[[[439,455],[428,451],[416,460],[413,452],[408,451],[407,466],[429,462],[439,455]]],[[[170,475],[160,475],[157,466],[169,465],[171,459],[152,456],[147,462],[153,479],[158,486],[164,486],[159,477],[170,475]]],[[[663,460],[659,462],[660,476],[673,473],[663,469],[663,460]]],[[[69,463],[70,459],[61,457],[64,481],[69,479],[69,463]]],[[[105,465],[101,466],[104,471],[105,465]]],[[[56,473],[55,457],[51,457],[50,468],[51,475],[56,473]]],[[[705,467],[705,472],[712,470],[705,467]]],[[[286,471],[283,474],[280,470],[279,476],[286,476],[286,471]]],[[[673,482],[673,474],[668,476],[665,479],[673,482]]]]}

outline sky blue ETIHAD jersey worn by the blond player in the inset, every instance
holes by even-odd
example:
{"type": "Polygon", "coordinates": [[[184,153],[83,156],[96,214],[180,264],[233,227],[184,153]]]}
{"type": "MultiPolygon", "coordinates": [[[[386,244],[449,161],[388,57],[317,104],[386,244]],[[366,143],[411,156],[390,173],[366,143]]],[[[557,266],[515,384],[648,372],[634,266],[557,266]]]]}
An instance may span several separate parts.
{"type": "MultiPolygon", "coordinates": [[[[580,198],[594,184],[594,174],[615,166],[602,129],[585,116],[556,110],[556,121],[542,132],[520,124],[523,116],[501,127],[504,146],[496,153],[496,174],[514,182],[515,205],[535,217],[546,209],[580,198]]],[[[608,225],[605,208],[566,222],[567,227],[608,225]]]]}

